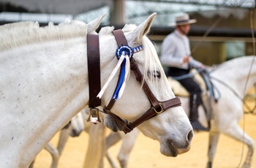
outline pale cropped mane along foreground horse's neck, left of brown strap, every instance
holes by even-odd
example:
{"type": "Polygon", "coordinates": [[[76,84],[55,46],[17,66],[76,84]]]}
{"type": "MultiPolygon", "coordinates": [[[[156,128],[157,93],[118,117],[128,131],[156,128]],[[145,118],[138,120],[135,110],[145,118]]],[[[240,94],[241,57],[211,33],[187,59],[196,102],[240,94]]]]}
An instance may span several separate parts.
{"type": "Polygon", "coordinates": [[[0,50],[58,39],[86,37],[87,24],[81,22],[62,23],[59,26],[39,27],[37,22],[10,23],[0,26],[0,50]]]}

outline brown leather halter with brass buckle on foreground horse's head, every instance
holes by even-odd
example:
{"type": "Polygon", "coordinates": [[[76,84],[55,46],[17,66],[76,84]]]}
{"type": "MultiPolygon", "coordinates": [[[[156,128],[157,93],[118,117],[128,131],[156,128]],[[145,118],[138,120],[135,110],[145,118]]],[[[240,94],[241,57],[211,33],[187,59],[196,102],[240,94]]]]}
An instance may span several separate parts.
{"type": "MultiPolygon", "coordinates": [[[[113,35],[115,36],[116,42],[118,44],[117,53],[122,53],[122,54],[127,53],[127,51],[120,52],[121,47],[131,48],[127,44],[127,39],[124,37],[123,31],[121,31],[121,29],[118,29],[116,31],[113,31],[113,35]]],[[[164,112],[168,108],[181,106],[181,100],[178,97],[169,99],[164,102],[159,102],[157,100],[157,98],[154,96],[154,94],[151,92],[150,88],[148,87],[148,84],[146,83],[146,81],[143,82],[143,75],[140,72],[140,69],[138,69],[138,64],[136,63],[135,59],[132,58],[133,50],[128,49],[128,51],[132,52],[131,56],[129,57],[130,69],[134,72],[136,80],[140,84],[143,85],[143,87],[142,87],[143,91],[145,91],[146,95],[148,96],[148,100],[151,103],[151,108],[149,110],[147,110],[142,116],[140,116],[140,118],[138,118],[134,122],[128,123],[127,121],[124,121],[123,119],[118,117],[118,115],[115,115],[113,112],[110,111],[116,102],[116,96],[113,96],[112,99],[110,99],[109,104],[103,108],[103,112],[105,112],[108,115],[111,115],[113,117],[113,119],[118,124],[121,125],[122,131],[124,131],[125,134],[132,131],[132,129],[134,129],[136,126],[140,125],[140,123],[143,123],[144,121],[147,121],[148,119],[153,118],[156,115],[159,115],[160,113],[164,112]]],[[[120,69],[120,73],[122,73],[121,69],[120,69]]],[[[120,80],[120,77],[121,77],[121,75],[119,75],[119,80],[120,80]]],[[[90,84],[90,82],[89,82],[89,84],[90,84]]],[[[118,88],[118,83],[116,85],[116,89],[117,88],[118,88]]],[[[115,91],[115,93],[116,93],[116,91],[115,91]]]]}

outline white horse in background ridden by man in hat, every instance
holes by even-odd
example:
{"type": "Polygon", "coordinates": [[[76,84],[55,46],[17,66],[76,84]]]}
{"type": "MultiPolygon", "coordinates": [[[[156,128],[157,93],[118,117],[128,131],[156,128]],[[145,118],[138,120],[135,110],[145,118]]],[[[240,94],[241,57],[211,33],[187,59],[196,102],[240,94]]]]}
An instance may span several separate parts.
{"type": "MultiPolygon", "coordinates": [[[[218,102],[211,101],[212,119],[208,143],[208,168],[212,167],[220,134],[244,142],[248,152],[243,167],[250,167],[255,142],[238,125],[244,115],[243,99],[245,94],[256,83],[256,57],[243,56],[219,64],[211,72],[212,82],[219,89],[221,96],[218,102]],[[245,88],[246,87],[246,88],[245,88]]],[[[216,95],[218,93],[216,92],[216,95]]],[[[189,112],[189,99],[180,97],[182,107],[189,112]]],[[[203,107],[199,107],[200,122],[207,124],[203,107]]],[[[206,125],[207,126],[207,125],[206,125]]]]}

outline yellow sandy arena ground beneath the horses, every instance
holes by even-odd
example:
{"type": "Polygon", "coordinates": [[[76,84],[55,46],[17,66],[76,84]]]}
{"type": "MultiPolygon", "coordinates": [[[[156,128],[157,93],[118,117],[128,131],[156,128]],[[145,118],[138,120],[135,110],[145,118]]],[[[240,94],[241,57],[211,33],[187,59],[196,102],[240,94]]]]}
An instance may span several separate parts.
{"type": "MultiPolygon", "coordinates": [[[[255,102],[251,104],[254,105],[255,102]]],[[[252,114],[244,115],[240,126],[246,130],[256,141],[256,116],[252,114]]],[[[56,145],[59,140],[57,134],[51,142],[56,145]]],[[[86,148],[88,145],[88,134],[83,132],[80,137],[69,138],[59,161],[59,168],[81,168],[85,159],[86,148]]],[[[110,148],[110,153],[116,158],[121,142],[110,148]]],[[[129,157],[129,168],[148,168],[148,167],[206,167],[208,151],[208,132],[195,132],[192,140],[192,148],[188,153],[184,153],[176,158],[162,156],[159,152],[159,142],[139,134],[135,147],[129,157]]],[[[241,142],[221,135],[214,160],[214,168],[235,168],[241,167],[244,162],[247,147],[241,142]]],[[[50,167],[51,156],[45,150],[42,150],[37,156],[34,168],[50,167]]],[[[116,160],[117,161],[117,160],[116,160]]],[[[107,159],[104,160],[104,167],[110,168],[107,159]]],[[[252,159],[252,168],[256,167],[256,153],[252,159]]]]}

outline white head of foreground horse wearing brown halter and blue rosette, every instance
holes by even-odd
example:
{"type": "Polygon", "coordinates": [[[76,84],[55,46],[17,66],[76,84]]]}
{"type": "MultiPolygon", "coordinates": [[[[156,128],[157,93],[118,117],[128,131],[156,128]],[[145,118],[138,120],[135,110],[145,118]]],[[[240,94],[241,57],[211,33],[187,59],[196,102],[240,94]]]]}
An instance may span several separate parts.
{"type": "MultiPolygon", "coordinates": [[[[166,101],[174,98],[175,95],[168,84],[167,77],[165,77],[154,45],[146,37],[155,15],[148,17],[139,26],[126,25],[122,31],[130,47],[143,45],[143,50],[134,53],[132,56],[143,74],[142,83],[148,84],[156,99],[166,101]]],[[[110,31],[113,30],[111,27],[109,29],[110,31]]],[[[113,34],[107,34],[106,32],[105,28],[99,32],[100,59],[104,63],[101,64],[102,85],[106,83],[110,72],[118,64],[118,60],[114,57],[116,48],[118,48],[116,39],[113,34]]],[[[102,106],[107,106],[110,99],[112,99],[118,81],[117,76],[111,80],[108,89],[102,95],[102,106]]],[[[138,83],[135,75],[131,72],[124,93],[121,98],[116,100],[111,112],[129,123],[140,118],[150,108],[151,102],[148,101],[142,85],[138,83]]],[[[113,121],[113,118],[109,115],[105,115],[104,123],[113,131],[121,129],[118,123],[113,121]]],[[[177,156],[187,152],[193,136],[192,126],[181,106],[168,108],[161,114],[154,116],[154,118],[141,123],[138,129],[147,137],[158,140],[160,151],[165,156],[177,156]]]]}

